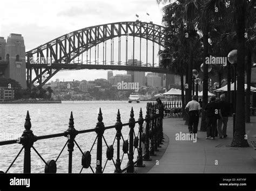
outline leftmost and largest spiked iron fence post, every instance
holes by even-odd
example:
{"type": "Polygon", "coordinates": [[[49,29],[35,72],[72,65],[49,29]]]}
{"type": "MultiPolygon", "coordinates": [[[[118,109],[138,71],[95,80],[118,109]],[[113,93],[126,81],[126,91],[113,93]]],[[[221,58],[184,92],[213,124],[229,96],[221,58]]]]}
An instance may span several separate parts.
{"type": "Polygon", "coordinates": [[[26,112],[25,130],[23,131],[22,137],[18,138],[17,143],[22,144],[24,146],[24,167],[23,173],[31,173],[31,147],[37,141],[37,137],[33,135],[33,131],[31,131],[31,122],[29,111],[26,112]]]}

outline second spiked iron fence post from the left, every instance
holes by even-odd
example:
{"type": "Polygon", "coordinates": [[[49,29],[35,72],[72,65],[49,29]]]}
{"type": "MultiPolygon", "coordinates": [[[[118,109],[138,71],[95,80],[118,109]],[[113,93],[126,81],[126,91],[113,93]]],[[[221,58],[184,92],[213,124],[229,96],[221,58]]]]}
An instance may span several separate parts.
{"type": "Polygon", "coordinates": [[[69,119],[69,128],[65,131],[65,137],[68,138],[68,151],[69,151],[69,173],[72,173],[72,152],[74,151],[74,140],[78,134],[78,131],[74,128],[73,112],[71,111],[69,119]]]}

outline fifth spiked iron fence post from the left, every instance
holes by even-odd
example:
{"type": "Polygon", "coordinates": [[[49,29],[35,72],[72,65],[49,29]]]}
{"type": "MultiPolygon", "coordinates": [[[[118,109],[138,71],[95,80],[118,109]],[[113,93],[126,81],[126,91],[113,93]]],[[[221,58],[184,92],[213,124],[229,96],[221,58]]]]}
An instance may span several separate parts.
{"type": "Polygon", "coordinates": [[[130,137],[129,137],[129,154],[128,154],[128,168],[127,173],[134,173],[134,162],[133,162],[133,133],[134,133],[135,119],[133,114],[133,108],[131,110],[130,119],[129,119],[129,128],[130,128],[130,137]]]}

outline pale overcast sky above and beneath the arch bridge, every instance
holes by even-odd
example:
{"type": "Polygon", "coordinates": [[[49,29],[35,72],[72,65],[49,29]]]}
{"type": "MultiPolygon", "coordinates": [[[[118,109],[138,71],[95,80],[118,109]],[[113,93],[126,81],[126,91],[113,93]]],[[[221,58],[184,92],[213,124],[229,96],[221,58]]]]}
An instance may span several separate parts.
{"type": "MultiPolygon", "coordinates": [[[[161,25],[161,8],[156,0],[1,0],[0,36],[22,34],[26,51],[64,34],[89,26],[114,22],[152,21],[161,25]],[[150,16],[147,16],[149,13],[150,16]]],[[[113,71],[124,74],[124,71],[113,71]]],[[[51,80],[95,80],[107,78],[106,70],[59,72],[51,80]]]]}

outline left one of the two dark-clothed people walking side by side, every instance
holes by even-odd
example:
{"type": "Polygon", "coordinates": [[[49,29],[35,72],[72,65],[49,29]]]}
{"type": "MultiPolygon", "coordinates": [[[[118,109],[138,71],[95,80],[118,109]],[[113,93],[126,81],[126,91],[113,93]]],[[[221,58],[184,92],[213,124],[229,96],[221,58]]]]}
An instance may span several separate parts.
{"type": "Polygon", "coordinates": [[[217,131],[217,119],[221,116],[219,104],[215,102],[215,96],[211,97],[210,103],[207,103],[204,110],[207,117],[207,137],[206,139],[215,139],[215,131],[217,131]]]}

